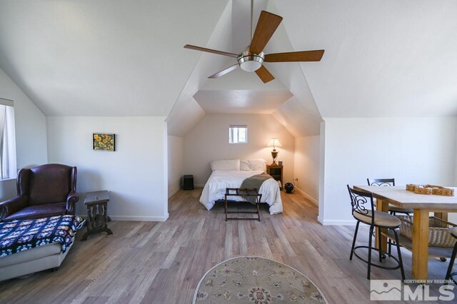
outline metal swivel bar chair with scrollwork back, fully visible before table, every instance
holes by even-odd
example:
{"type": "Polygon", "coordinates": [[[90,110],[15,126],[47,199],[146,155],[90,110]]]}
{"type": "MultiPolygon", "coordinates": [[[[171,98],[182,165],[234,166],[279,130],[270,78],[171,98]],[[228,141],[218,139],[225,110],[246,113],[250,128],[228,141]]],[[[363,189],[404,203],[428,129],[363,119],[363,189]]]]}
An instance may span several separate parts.
{"type": "MultiPolygon", "coordinates": [[[[363,262],[368,264],[368,274],[367,278],[368,280],[370,279],[370,271],[371,271],[371,265],[378,267],[378,268],[383,268],[383,269],[388,269],[388,270],[395,270],[400,268],[401,270],[401,279],[405,280],[405,271],[403,270],[403,261],[401,260],[401,250],[400,250],[400,245],[398,245],[398,233],[396,231],[396,228],[399,228],[401,226],[401,221],[396,217],[392,216],[391,214],[381,212],[381,211],[375,211],[373,208],[373,194],[372,193],[367,193],[364,191],[356,191],[348,186],[348,191],[349,191],[349,196],[351,196],[351,206],[352,206],[352,216],[357,220],[356,224],[356,231],[354,232],[354,238],[352,242],[352,248],[351,248],[351,255],[349,257],[349,260],[352,260],[352,256],[356,255],[357,258],[362,260],[363,262]],[[393,230],[393,234],[395,235],[395,245],[397,248],[397,255],[398,258],[395,258],[391,253],[388,253],[384,250],[378,249],[378,248],[373,248],[371,246],[373,238],[368,238],[368,246],[356,246],[356,238],[357,238],[357,232],[358,232],[358,225],[360,223],[364,223],[368,226],[370,226],[370,235],[373,234],[373,229],[375,227],[377,228],[386,228],[386,229],[391,229],[393,230]],[[357,255],[356,250],[358,248],[368,248],[368,260],[365,260],[361,256],[357,255]],[[396,261],[397,265],[396,266],[383,266],[380,264],[372,263],[371,262],[371,251],[375,250],[378,251],[379,254],[379,262],[382,263],[383,256],[392,258],[393,260],[396,261]]],[[[378,242],[381,244],[381,233],[378,234],[378,242]]]]}

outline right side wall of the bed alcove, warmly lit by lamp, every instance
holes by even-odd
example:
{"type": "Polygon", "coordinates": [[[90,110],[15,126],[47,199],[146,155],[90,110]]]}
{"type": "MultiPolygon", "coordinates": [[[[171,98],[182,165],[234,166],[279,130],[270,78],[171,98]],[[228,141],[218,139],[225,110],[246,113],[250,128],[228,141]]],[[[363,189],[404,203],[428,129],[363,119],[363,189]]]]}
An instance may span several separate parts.
{"type": "Polygon", "coordinates": [[[295,186],[313,203],[319,196],[319,136],[295,138],[293,177],[298,178],[295,186]]]}

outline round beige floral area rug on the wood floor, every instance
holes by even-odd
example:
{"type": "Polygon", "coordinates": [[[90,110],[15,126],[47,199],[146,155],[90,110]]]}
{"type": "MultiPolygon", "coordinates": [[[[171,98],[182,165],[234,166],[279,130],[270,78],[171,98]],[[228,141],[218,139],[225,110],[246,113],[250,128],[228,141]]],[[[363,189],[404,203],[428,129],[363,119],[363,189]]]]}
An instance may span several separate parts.
{"type": "Polygon", "coordinates": [[[303,273],[275,260],[238,257],[211,268],[193,303],[327,303],[303,273]]]}

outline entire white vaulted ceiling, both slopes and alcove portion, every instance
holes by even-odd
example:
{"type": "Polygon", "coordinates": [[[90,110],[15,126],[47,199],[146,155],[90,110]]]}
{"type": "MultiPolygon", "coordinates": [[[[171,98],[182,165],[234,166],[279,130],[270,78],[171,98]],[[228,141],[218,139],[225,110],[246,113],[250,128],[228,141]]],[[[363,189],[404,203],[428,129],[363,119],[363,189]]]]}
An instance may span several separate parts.
{"type": "Polygon", "coordinates": [[[325,49],[318,63],[268,64],[264,85],[206,77],[249,44],[248,0],[0,0],[0,69],[47,116],[168,116],[183,135],[205,113],[272,113],[294,136],[327,117],[457,115],[457,1],[255,0],[283,16],[266,53],[325,49]],[[262,102],[263,101],[263,102],[262,102]]]}

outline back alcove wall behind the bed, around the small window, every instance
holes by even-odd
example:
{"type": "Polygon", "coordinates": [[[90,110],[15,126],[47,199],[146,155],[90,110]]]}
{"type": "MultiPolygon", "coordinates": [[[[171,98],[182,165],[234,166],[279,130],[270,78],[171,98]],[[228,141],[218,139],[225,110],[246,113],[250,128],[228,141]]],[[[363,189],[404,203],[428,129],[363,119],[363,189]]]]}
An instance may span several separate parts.
{"type": "Polygon", "coordinates": [[[282,160],[284,166],[283,181],[291,182],[294,138],[269,114],[206,114],[184,136],[184,174],[193,174],[196,186],[204,186],[211,174],[211,161],[264,158],[271,163],[271,148],[266,145],[273,137],[283,145],[277,148],[277,160],[282,160]],[[230,125],[247,125],[248,143],[229,143],[230,125]]]}

